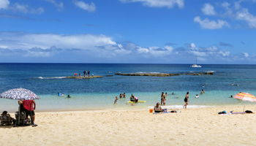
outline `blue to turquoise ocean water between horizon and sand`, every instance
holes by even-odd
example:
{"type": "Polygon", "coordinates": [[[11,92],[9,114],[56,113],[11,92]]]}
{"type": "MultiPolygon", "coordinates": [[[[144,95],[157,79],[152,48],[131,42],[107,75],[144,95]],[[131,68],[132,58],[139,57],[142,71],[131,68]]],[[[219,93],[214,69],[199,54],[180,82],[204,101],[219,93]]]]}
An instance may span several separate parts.
{"type": "MultiPolygon", "coordinates": [[[[189,91],[192,107],[241,106],[244,101],[231,99],[239,92],[256,95],[255,65],[212,65],[191,68],[191,64],[0,64],[0,92],[12,88],[27,88],[41,99],[36,100],[37,111],[64,110],[127,110],[148,109],[160,102],[167,92],[166,108],[181,108],[189,91]],[[74,73],[103,76],[93,79],[65,79],[74,73]],[[115,72],[161,72],[181,74],[173,77],[121,76],[115,72]],[[188,72],[214,72],[214,75],[185,75],[188,72]],[[106,77],[113,75],[113,77],[106,77]],[[234,84],[234,85],[230,85],[234,84]],[[204,87],[203,87],[204,85],[204,87]],[[237,86],[238,85],[238,86],[237,86]],[[206,93],[200,95],[204,89],[206,93]],[[57,96],[63,93],[64,96],[57,96]],[[126,93],[126,99],[116,96],[126,93]],[[141,101],[135,106],[127,104],[133,93],[141,101]],[[172,95],[171,93],[174,93],[172,95]],[[67,98],[67,95],[71,98],[67,98]],[[195,95],[200,96],[195,99],[195,95]],[[177,98],[178,97],[178,98],[177,98]]],[[[254,105],[246,101],[246,105],[254,105]]],[[[164,108],[165,108],[164,107],[164,108]]],[[[18,110],[18,101],[0,99],[0,111],[18,110]]]]}

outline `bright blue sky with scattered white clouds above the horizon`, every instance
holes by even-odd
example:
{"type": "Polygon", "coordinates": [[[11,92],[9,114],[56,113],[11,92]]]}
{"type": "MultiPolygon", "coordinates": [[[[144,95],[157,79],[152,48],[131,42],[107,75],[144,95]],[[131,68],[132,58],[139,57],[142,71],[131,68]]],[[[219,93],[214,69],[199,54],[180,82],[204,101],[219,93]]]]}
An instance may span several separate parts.
{"type": "Polygon", "coordinates": [[[256,0],[0,0],[0,62],[255,64],[256,0]]]}

